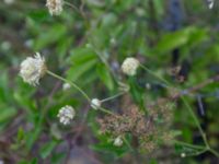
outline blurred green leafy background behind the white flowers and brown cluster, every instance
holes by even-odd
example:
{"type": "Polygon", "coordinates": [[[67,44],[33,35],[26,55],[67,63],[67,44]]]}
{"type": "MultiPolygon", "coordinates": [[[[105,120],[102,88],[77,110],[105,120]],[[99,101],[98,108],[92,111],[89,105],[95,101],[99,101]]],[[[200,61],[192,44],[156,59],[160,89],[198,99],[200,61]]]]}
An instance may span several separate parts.
{"type": "MultiPolygon", "coordinates": [[[[90,110],[73,89],[64,91],[62,83],[48,75],[33,87],[19,77],[20,62],[39,51],[49,70],[77,82],[91,97],[114,95],[118,92],[116,80],[122,80],[131,85],[132,101],[142,107],[145,96],[149,102],[165,96],[162,83],[143,71],[136,78],[125,79],[119,71],[123,60],[135,56],[181,89],[217,75],[218,1],[211,10],[205,0],[68,2],[83,12],[65,5],[60,15],[51,16],[44,0],[1,0],[0,163],[219,163],[208,152],[183,159],[181,153],[187,150],[174,145],[150,155],[115,148],[99,133],[96,117],[102,114],[90,110]],[[170,74],[177,66],[181,67],[177,77],[170,74]],[[178,82],[182,77],[184,82],[178,82]],[[61,126],[56,117],[66,104],[77,110],[70,127],[61,126]]],[[[219,83],[201,87],[187,98],[210,145],[219,151],[219,83]]],[[[122,99],[106,106],[119,112],[122,99]]],[[[180,140],[203,144],[182,102],[177,102],[174,110],[173,129],[181,131],[180,140]]]]}

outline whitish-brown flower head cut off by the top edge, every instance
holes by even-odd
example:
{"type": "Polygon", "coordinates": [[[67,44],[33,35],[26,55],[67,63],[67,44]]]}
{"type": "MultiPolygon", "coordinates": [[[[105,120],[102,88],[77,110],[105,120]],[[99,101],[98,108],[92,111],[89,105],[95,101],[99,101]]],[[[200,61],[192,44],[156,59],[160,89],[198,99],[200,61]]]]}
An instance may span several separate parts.
{"type": "Polygon", "coordinates": [[[62,0],[47,0],[46,7],[51,15],[59,15],[62,12],[62,0]]]}

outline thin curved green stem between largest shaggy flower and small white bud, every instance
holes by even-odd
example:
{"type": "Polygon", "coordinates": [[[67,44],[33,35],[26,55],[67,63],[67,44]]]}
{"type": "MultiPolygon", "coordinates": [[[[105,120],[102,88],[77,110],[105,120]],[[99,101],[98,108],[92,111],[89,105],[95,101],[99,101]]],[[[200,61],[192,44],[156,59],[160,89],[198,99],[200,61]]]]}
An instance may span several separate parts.
{"type": "Polygon", "coordinates": [[[87,93],[83,92],[83,90],[82,90],[81,87],[79,87],[76,83],[73,83],[72,81],[69,81],[69,80],[67,80],[67,79],[65,79],[65,78],[62,78],[62,77],[60,77],[60,75],[58,75],[58,74],[56,74],[56,73],[49,71],[49,70],[47,70],[47,73],[48,73],[49,75],[54,77],[54,78],[57,78],[57,79],[59,79],[59,80],[66,82],[66,83],[69,83],[69,84],[72,85],[74,89],[77,89],[77,90],[88,99],[88,102],[91,102],[91,98],[87,95],[87,93]]]}

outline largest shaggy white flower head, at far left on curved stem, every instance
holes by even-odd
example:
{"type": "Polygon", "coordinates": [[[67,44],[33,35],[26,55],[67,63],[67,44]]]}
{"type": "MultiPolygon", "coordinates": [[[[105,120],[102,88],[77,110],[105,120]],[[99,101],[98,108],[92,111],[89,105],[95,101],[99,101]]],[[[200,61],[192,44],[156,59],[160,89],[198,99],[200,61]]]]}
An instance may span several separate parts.
{"type": "Polygon", "coordinates": [[[44,57],[39,52],[36,52],[34,57],[27,57],[20,66],[20,75],[23,81],[37,85],[39,79],[46,73],[46,65],[44,57]]]}

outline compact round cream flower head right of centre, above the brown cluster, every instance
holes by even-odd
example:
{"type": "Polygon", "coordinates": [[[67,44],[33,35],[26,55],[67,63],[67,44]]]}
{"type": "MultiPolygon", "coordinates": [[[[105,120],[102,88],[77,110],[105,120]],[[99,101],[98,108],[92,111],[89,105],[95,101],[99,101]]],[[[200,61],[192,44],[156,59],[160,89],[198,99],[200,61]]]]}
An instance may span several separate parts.
{"type": "Polygon", "coordinates": [[[122,65],[122,71],[127,75],[135,75],[140,62],[132,57],[126,58],[122,65]]]}

